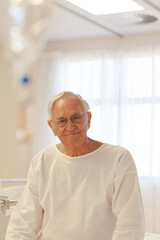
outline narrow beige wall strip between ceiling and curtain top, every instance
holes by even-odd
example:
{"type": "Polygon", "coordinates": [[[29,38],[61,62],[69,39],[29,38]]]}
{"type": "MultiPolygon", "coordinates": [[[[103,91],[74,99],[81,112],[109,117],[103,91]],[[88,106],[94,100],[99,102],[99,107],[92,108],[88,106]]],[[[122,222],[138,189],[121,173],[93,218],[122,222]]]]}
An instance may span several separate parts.
{"type": "Polygon", "coordinates": [[[77,39],[72,41],[49,42],[47,50],[76,51],[76,50],[127,50],[131,47],[144,47],[160,45],[160,32],[150,34],[138,34],[120,37],[99,37],[88,39],[77,39]]]}

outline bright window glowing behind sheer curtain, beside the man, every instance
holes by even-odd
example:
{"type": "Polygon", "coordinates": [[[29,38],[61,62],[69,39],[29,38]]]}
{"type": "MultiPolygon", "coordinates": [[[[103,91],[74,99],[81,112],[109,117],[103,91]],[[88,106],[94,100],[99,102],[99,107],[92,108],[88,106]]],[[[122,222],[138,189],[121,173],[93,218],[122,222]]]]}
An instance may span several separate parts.
{"type": "Polygon", "coordinates": [[[89,136],[127,148],[140,176],[160,176],[160,56],[64,57],[59,91],[90,104],[89,136]]]}

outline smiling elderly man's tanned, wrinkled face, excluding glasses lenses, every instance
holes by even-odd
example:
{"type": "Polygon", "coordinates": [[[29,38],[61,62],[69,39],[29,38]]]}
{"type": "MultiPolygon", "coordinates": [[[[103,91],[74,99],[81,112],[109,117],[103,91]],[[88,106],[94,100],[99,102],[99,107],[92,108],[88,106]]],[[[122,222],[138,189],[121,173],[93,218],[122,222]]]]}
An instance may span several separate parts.
{"type": "Polygon", "coordinates": [[[91,113],[86,113],[81,101],[75,96],[62,96],[58,99],[52,110],[52,130],[65,145],[81,146],[87,138],[87,130],[90,127],[91,113]],[[60,127],[56,124],[64,119],[82,116],[79,123],[68,120],[67,124],[60,127]]]}

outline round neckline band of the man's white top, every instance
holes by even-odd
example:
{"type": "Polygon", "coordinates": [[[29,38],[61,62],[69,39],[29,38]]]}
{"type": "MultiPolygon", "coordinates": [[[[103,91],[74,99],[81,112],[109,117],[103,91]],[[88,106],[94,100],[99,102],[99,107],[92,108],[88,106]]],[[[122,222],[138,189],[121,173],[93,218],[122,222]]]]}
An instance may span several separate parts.
{"type": "Polygon", "coordinates": [[[59,155],[61,155],[61,156],[63,157],[63,159],[65,158],[66,160],[69,160],[69,161],[72,161],[72,162],[74,162],[74,161],[76,160],[76,162],[77,162],[77,161],[79,161],[79,160],[83,160],[84,158],[90,157],[90,156],[92,156],[93,154],[99,152],[105,145],[106,145],[106,143],[103,143],[99,148],[97,148],[96,150],[94,150],[94,151],[92,151],[92,152],[89,152],[89,153],[86,153],[86,154],[83,154],[83,155],[80,155],[80,156],[73,156],[73,157],[68,156],[68,155],[62,153],[62,152],[58,149],[57,145],[54,145],[54,146],[55,146],[55,149],[56,149],[57,153],[58,153],[59,155]]]}

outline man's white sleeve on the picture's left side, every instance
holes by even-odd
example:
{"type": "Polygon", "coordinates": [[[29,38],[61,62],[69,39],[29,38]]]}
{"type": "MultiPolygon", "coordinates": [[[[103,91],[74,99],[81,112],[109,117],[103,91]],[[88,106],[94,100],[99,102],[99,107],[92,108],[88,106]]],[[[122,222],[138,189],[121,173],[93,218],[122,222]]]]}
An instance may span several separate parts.
{"type": "Polygon", "coordinates": [[[5,240],[36,240],[41,230],[43,209],[39,203],[38,171],[33,162],[25,190],[13,211],[5,240]]]}

